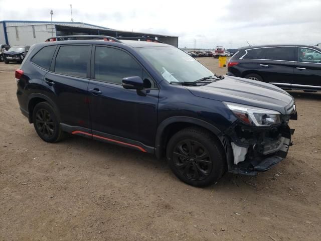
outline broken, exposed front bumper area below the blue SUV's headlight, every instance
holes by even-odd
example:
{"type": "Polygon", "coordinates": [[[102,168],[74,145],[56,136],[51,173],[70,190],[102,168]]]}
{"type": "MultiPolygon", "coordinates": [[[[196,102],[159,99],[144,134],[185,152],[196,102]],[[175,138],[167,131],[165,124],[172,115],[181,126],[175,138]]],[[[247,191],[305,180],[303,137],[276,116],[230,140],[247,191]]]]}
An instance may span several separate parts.
{"type": "Polygon", "coordinates": [[[231,140],[227,150],[228,171],[254,176],[272,168],[286,157],[293,133],[286,122],[270,128],[236,123],[225,132],[231,140]]]}

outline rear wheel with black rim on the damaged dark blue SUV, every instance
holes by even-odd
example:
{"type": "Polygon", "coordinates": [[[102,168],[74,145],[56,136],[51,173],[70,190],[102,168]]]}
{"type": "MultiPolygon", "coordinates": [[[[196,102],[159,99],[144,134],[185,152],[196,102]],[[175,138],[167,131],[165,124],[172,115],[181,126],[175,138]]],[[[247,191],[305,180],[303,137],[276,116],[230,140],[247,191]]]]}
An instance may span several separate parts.
{"type": "Polygon", "coordinates": [[[33,123],[38,136],[45,142],[58,142],[64,137],[57,111],[48,102],[40,102],[35,106],[33,123]]]}

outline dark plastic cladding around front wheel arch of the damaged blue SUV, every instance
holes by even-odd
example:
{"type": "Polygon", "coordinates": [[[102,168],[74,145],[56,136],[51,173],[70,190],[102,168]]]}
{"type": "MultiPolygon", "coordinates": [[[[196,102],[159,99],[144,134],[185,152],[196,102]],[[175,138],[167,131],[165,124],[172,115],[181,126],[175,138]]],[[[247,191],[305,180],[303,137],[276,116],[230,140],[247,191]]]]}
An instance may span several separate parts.
{"type": "Polygon", "coordinates": [[[169,139],[178,131],[187,127],[200,127],[210,133],[212,133],[216,138],[220,140],[222,148],[225,149],[221,136],[221,131],[215,126],[202,121],[201,119],[187,117],[187,116],[175,116],[165,119],[157,128],[155,136],[155,155],[159,159],[163,155],[164,148],[166,148],[169,139]]]}

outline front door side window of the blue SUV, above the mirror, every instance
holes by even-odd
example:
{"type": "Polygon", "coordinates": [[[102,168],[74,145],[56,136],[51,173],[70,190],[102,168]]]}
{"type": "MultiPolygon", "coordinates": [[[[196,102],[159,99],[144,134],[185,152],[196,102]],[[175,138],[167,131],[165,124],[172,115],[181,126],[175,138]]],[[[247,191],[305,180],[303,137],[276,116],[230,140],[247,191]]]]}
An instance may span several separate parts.
{"type": "Polygon", "coordinates": [[[130,76],[142,76],[142,68],[126,52],[108,47],[96,47],[95,79],[121,84],[121,80],[130,76]]]}

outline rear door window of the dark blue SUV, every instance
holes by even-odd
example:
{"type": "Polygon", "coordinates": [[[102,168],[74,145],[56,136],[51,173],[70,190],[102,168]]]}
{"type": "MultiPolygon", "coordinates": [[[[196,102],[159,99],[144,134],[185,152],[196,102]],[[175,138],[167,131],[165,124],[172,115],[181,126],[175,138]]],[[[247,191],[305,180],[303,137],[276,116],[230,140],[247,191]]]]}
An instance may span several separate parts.
{"type": "Polygon", "coordinates": [[[56,57],[55,72],[86,78],[90,50],[89,46],[61,46],[56,57]]]}

